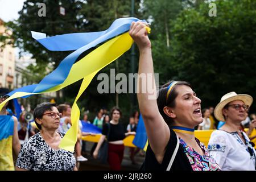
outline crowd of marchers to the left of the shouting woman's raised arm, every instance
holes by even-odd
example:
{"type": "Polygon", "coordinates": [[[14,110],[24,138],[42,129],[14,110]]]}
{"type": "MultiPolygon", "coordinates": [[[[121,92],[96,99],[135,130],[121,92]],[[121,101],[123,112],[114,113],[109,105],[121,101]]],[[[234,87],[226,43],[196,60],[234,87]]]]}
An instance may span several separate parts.
{"type": "MultiPolygon", "coordinates": [[[[9,93],[9,89],[1,89],[1,102],[6,98],[3,97],[9,93]]],[[[74,155],[72,152],[60,149],[58,146],[61,139],[71,128],[71,106],[65,104],[50,104],[44,102],[36,106],[32,111],[32,117],[34,119],[26,118],[26,114],[31,114],[25,110],[20,113],[18,119],[14,116],[14,104],[12,101],[7,104],[1,110],[1,117],[3,115],[8,116],[7,123],[13,123],[13,140],[12,144],[2,144],[3,147],[9,147],[9,150],[1,153],[0,163],[7,163],[9,166],[2,166],[2,169],[15,169],[16,170],[77,170],[77,162],[85,162],[88,159],[82,155],[82,151],[86,154],[86,142],[82,141],[81,137],[86,135],[96,135],[94,133],[82,132],[82,122],[90,123],[88,121],[88,113],[82,115],[82,119],[79,121],[79,132],[77,142],[75,144],[74,155]],[[13,159],[14,149],[16,160],[13,159]],[[8,161],[5,161],[5,158],[8,161]],[[54,160],[53,160],[54,159],[54,160]]],[[[138,123],[138,111],[130,120],[138,123]]],[[[125,127],[119,119],[121,118],[121,110],[114,107],[109,112],[106,109],[100,109],[96,117],[94,118],[93,125],[102,129],[102,137],[94,147],[92,147],[92,156],[97,159],[97,152],[101,147],[101,143],[105,140],[106,134],[109,133],[108,143],[108,163],[110,169],[120,170],[123,159],[124,145],[123,139],[128,135],[135,135],[135,123],[132,126],[133,131],[125,131],[125,127]],[[108,127],[109,125],[109,131],[108,127]],[[97,147],[96,147],[97,146],[97,147]]],[[[137,125],[137,124],[136,124],[137,125]]],[[[129,125],[130,126],[130,125],[129,125]]],[[[0,130],[1,131],[1,130],[0,130]]],[[[3,131],[1,131],[3,133],[3,131]]],[[[134,154],[131,153],[131,159],[134,162],[134,154]]]]}

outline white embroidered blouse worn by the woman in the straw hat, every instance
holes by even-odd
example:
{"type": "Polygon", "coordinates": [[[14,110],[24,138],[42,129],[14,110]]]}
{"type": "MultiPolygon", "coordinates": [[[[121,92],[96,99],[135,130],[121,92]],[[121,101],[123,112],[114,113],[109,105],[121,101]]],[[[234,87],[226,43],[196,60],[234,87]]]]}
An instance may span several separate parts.
{"type": "Polygon", "coordinates": [[[249,143],[249,138],[243,132],[246,144],[237,132],[228,133],[223,130],[213,131],[208,143],[210,155],[224,171],[254,171],[255,150],[249,143]],[[250,155],[248,147],[254,152],[250,155]]]}

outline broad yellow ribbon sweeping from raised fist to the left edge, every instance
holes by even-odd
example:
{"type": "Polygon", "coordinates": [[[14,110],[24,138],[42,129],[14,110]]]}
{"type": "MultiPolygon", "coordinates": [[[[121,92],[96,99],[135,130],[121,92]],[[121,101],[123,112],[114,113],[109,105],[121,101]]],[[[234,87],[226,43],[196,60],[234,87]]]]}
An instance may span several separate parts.
{"type": "Polygon", "coordinates": [[[124,52],[126,52],[131,47],[132,43],[133,40],[128,33],[122,34],[114,39],[109,40],[102,46],[95,49],[93,52],[89,53],[87,56],[83,57],[77,63],[75,63],[72,66],[67,79],[62,84],[40,93],[16,92],[0,104],[0,110],[2,110],[2,107],[6,104],[6,102],[14,98],[33,94],[56,92],[57,90],[60,90],[65,86],[71,85],[74,82],[81,80],[82,78],[90,75],[91,73],[94,73],[95,71],[99,71],[106,65],[112,63],[112,61],[117,59],[124,52]],[[104,51],[106,55],[104,55],[101,51],[104,51]],[[114,55],[110,57],[110,54],[113,52],[114,55]]]}

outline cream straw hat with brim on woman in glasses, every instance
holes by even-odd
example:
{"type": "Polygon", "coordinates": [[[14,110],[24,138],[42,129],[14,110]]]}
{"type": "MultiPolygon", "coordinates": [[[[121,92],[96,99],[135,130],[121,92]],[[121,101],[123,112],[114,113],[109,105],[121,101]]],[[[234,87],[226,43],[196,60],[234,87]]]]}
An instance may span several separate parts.
{"type": "Polygon", "coordinates": [[[221,97],[220,103],[214,109],[214,116],[218,121],[225,121],[224,116],[222,114],[222,109],[226,104],[232,101],[240,100],[245,103],[245,105],[251,106],[253,103],[253,97],[247,94],[237,94],[236,92],[229,92],[221,97]]]}

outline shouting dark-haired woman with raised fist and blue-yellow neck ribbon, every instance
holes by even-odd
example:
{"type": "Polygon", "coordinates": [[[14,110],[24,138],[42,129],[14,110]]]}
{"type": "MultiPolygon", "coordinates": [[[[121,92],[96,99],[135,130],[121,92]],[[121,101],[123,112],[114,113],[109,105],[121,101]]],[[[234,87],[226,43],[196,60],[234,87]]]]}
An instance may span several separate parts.
{"type": "Polygon", "coordinates": [[[133,22],[129,33],[139,47],[139,76],[143,77],[146,74],[144,78],[148,79],[138,83],[137,94],[148,137],[142,169],[220,169],[204,144],[195,138],[194,128],[203,121],[203,118],[201,100],[196,97],[191,85],[185,81],[168,82],[160,88],[156,98],[151,43],[147,36],[146,24],[133,22]],[[148,85],[152,90],[145,90],[145,82],[150,82],[148,85]]]}

